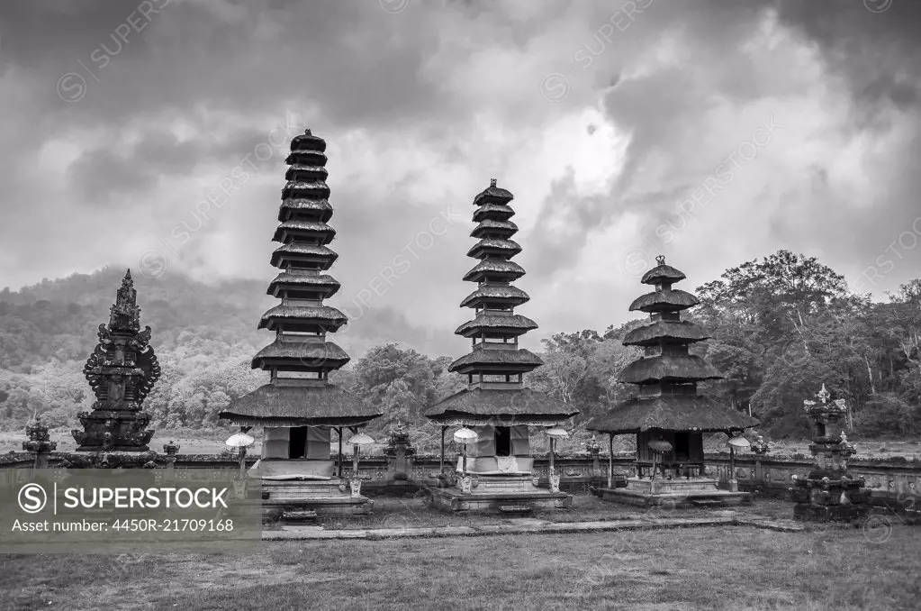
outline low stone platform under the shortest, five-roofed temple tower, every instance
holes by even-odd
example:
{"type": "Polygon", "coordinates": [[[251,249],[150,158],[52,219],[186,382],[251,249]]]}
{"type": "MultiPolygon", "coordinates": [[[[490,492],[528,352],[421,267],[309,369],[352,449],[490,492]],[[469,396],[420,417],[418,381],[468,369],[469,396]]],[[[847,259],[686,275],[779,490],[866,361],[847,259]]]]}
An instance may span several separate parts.
{"type": "Polygon", "coordinates": [[[655,481],[629,477],[626,488],[598,488],[596,494],[603,500],[640,507],[729,507],[752,500],[749,492],[722,490],[716,479],[705,477],[655,481]]]}

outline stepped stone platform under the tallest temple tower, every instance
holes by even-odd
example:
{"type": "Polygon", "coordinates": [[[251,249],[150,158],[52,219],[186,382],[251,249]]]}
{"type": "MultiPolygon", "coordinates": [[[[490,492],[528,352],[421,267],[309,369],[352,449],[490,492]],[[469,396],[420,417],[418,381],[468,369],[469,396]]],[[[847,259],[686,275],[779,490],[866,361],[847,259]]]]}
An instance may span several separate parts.
{"type": "Polygon", "coordinates": [[[317,515],[367,515],[374,501],[352,495],[348,486],[340,489],[339,479],[262,480],[262,513],[267,518],[284,519],[286,512],[316,511],[317,515]]]}

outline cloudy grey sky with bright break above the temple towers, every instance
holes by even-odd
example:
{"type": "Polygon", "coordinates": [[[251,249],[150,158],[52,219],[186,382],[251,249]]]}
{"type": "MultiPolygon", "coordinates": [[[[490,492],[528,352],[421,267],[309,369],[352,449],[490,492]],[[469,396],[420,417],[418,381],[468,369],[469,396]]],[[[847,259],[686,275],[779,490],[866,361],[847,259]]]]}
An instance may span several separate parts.
{"type": "Polygon", "coordinates": [[[344,347],[461,353],[492,177],[529,347],[632,318],[659,253],[693,289],[786,248],[881,299],[921,276],[917,31],[911,0],[5,1],[0,286],[268,282],[309,126],[344,347]]]}

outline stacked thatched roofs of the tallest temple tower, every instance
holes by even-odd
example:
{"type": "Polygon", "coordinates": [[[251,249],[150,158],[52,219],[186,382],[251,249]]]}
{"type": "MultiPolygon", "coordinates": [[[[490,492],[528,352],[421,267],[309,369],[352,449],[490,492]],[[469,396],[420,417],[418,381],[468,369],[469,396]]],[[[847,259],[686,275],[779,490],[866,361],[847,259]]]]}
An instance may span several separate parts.
{"type": "Polygon", "coordinates": [[[281,273],[268,294],[281,303],[262,314],[260,329],[275,341],[252,358],[252,369],[270,371],[271,381],[231,401],[219,415],[241,425],[355,426],[379,417],[352,394],[329,382],[329,372],[349,361],[326,340],[348,323],[342,311],[323,303],[339,290],[327,274],[338,258],[329,244],[336,235],[330,187],[326,184],[326,141],[307,130],[291,140],[286,184],[273,241],[281,246],[271,264],[281,273]]]}

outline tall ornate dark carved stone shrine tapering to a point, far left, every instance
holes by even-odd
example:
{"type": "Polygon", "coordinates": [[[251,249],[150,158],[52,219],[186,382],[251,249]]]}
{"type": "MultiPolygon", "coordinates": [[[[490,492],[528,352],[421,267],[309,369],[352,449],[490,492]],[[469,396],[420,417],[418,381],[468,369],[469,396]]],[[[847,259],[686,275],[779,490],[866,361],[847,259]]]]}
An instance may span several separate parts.
{"type": "Polygon", "coordinates": [[[150,342],[150,327],[140,331],[141,309],[131,270],[122,279],[109,325],[99,324],[99,344],[83,373],[96,394],[93,411],[77,417],[83,430],[71,431],[77,452],[148,452],[154,436],[150,416],[141,411],[144,399],[160,377],[150,342]]]}

